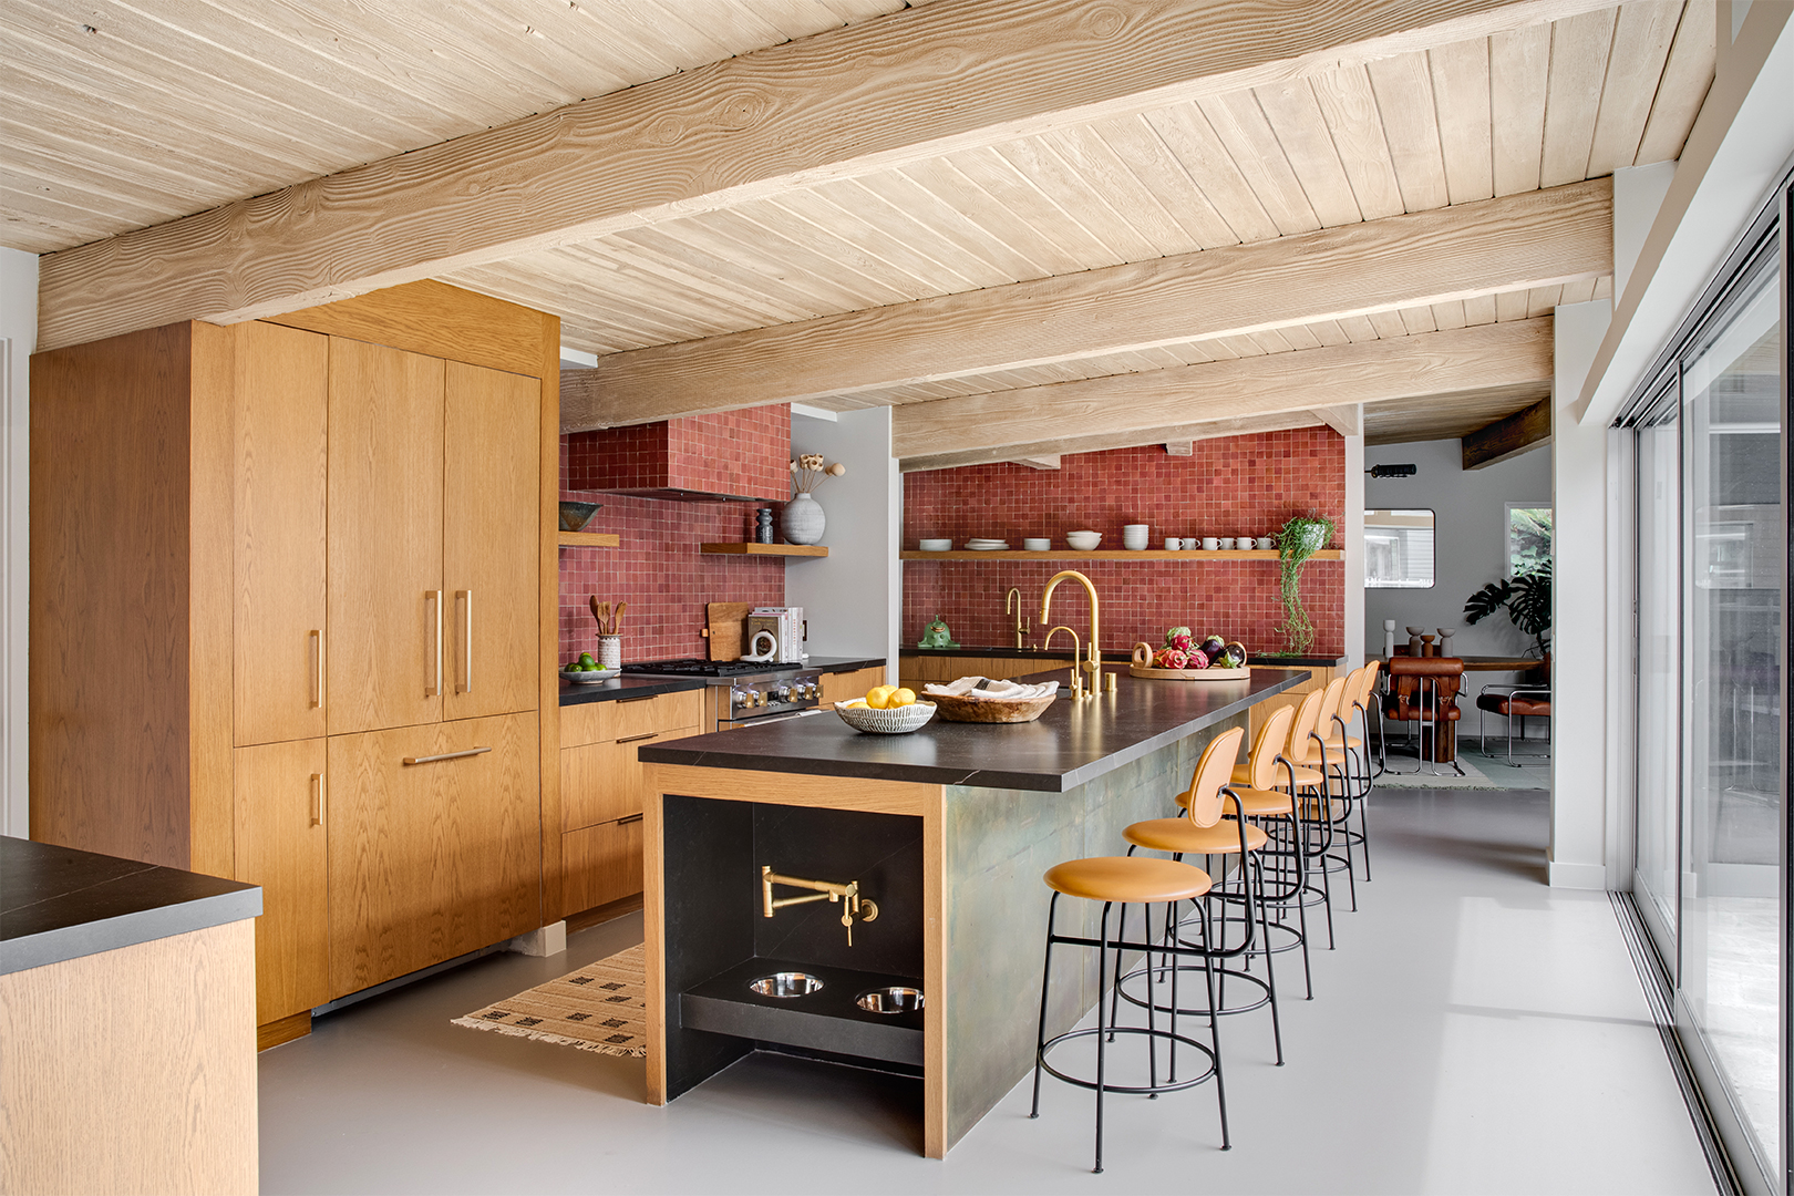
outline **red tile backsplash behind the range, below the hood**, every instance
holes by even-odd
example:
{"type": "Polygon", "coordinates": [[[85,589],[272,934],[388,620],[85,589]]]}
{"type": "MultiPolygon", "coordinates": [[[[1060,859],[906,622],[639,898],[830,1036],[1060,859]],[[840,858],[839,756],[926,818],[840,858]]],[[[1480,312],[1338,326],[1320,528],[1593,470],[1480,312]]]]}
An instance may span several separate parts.
{"type": "MultiPolygon", "coordinates": [[[[614,430],[649,441],[651,436],[644,436],[649,429],[614,430]]],[[[576,454],[569,441],[581,436],[590,434],[562,438],[562,498],[603,502],[587,531],[617,533],[623,547],[560,550],[562,662],[576,660],[579,653],[596,654],[597,624],[587,602],[592,594],[601,602],[630,604],[621,626],[626,662],[707,656],[709,640],[698,635],[705,602],[784,604],[784,559],[698,552],[705,542],[752,540],[752,502],[667,502],[574,488],[576,454]]],[[[780,455],[780,470],[786,470],[786,461],[780,455]]]]}

